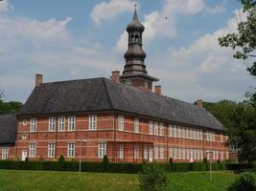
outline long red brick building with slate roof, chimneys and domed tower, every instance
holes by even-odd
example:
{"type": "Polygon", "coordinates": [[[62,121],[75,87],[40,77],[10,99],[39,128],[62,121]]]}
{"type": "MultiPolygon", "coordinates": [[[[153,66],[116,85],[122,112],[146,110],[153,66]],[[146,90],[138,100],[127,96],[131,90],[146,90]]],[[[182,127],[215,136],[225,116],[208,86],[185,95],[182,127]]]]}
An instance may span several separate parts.
{"type": "Polygon", "coordinates": [[[0,134],[2,159],[229,159],[224,128],[201,100],[191,104],[163,96],[161,86],[152,91],[158,79],[146,70],[144,26],[136,11],[127,31],[123,74],[50,83],[35,75],[35,89],[17,119],[0,117],[0,128],[11,135],[5,142],[1,138],[8,133],[0,134]]]}

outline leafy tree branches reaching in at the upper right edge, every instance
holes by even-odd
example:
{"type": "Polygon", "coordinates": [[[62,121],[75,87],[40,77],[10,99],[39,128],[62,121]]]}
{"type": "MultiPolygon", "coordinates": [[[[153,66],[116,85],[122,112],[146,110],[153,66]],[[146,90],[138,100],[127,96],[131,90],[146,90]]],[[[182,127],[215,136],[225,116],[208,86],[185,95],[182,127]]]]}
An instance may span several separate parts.
{"type": "MultiPolygon", "coordinates": [[[[218,40],[221,47],[231,47],[235,50],[234,58],[250,62],[246,64],[247,71],[252,76],[256,76],[256,0],[240,1],[247,15],[246,20],[238,23],[238,32],[228,33],[218,40]]],[[[256,103],[255,89],[247,96],[256,103]]]]}

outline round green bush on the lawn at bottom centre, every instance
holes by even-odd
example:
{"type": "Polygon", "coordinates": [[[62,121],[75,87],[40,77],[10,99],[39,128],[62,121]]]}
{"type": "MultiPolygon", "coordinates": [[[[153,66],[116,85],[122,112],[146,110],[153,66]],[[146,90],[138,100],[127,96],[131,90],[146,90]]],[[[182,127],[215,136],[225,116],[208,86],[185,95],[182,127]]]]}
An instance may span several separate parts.
{"type": "Polygon", "coordinates": [[[139,186],[143,191],[167,190],[167,172],[156,162],[143,164],[142,172],[139,173],[139,186]]]}

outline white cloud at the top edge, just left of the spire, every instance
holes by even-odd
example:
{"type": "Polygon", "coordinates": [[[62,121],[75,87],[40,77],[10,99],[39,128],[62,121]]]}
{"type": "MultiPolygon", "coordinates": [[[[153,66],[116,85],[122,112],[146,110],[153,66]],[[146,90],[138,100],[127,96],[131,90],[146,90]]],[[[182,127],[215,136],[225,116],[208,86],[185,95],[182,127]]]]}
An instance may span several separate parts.
{"type": "Polygon", "coordinates": [[[122,12],[133,11],[134,3],[135,1],[131,0],[102,1],[93,7],[90,17],[99,25],[102,21],[112,19],[122,12]]]}

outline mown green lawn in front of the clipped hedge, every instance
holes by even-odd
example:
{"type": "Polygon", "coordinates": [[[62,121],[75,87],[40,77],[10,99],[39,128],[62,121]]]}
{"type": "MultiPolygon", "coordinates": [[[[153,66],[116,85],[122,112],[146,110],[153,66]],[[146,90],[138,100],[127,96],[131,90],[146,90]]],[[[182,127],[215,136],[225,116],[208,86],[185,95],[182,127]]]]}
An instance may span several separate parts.
{"type": "MultiPolygon", "coordinates": [[[[236,175],[214,172],[211,182],[207,172],[169,176],[172,191],[222,191],[236,175]]],[[[0,170],[0,191],[138,190],[137,179],[128,174],[0,170]]]]}

